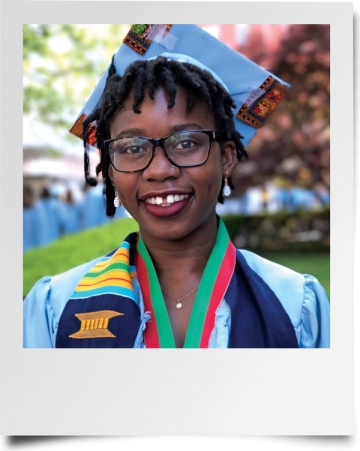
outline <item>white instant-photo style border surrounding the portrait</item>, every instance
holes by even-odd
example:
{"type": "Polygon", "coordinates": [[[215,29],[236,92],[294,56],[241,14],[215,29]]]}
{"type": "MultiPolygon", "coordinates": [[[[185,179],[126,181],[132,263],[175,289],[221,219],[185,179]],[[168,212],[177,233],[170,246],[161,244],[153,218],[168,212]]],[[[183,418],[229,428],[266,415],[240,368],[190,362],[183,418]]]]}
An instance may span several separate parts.
{"type": "Polygon", "coordinates": [[[353,434],[352,3],[60,1],[56,7],[52,3],[2,2],[1,432],[353,434]],[[115,17],[121,23],[330,24],[330,349],[22,348],[22,25],[111,23],[115,17]]]}

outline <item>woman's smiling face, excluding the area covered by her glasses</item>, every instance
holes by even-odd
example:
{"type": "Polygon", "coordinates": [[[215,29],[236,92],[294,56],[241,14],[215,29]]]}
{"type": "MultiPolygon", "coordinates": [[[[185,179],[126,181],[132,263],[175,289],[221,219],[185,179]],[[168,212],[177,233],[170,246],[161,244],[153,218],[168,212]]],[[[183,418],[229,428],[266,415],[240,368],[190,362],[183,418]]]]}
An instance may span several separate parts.
{"type": "MultiPolygon", "coordinates": [[[[205,104],[196,104],[190,112],[186,111],[186,94],[182,89],[178,90],[171,109],[167,108],[168,99],[162,90],[157,91],[154,100],[144,98],[140,114],[134,113],[132,103],[131,95],[114,116],[111,138],[123,135],[160,138],[194,129],[216,131],[214,117],[205,104]]],[[[122,204],[138,222],[144,240],[150,237],[176,240],[216,227],[215,206],[222,178],[231,174],[235,160],[232,141],[222,145],[213,141],[206,163],[192,168],[174,167],[161,147],[157,147],[151,164],[143,171],[120,173],[110,166],[109,175],[122,204]],[[157,198],[162,205],[157,204],[160,202],[157,198]]]]}

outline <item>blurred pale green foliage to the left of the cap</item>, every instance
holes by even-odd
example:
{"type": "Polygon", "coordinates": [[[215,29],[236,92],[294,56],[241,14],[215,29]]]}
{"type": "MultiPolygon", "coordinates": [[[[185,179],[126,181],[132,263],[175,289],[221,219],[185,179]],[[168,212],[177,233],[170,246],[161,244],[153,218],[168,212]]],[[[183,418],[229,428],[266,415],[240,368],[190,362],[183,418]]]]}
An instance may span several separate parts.
{"type": "Polygon", "coordinates": [[[122,24],[25,24],[24,113],[69,129],[128,28],[122,24]]]}

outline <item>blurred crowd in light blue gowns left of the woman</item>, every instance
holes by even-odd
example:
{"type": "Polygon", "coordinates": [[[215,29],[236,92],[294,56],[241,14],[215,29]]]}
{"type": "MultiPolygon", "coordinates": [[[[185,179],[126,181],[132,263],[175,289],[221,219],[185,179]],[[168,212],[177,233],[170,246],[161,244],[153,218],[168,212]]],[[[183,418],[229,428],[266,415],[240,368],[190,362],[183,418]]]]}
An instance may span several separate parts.
{"type": "MultiPolygon", "coordinates": [[[[126,217],[123,207],[115,219],[126,217]]],[[[74,193],[59,185],[43,187],[40,197],[30,184],[23,187],[23,251],[50,244],[59,237],[89,227],[105,224],[110,218],[105,213],[105,195],[102,184],[86,187],[74,193]]]]}

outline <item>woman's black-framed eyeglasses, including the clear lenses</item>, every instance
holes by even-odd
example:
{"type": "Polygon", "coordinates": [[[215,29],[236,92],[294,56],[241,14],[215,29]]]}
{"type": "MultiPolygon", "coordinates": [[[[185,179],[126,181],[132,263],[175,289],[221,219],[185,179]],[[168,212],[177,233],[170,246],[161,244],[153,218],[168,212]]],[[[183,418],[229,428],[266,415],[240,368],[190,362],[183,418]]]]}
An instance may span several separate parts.
{"type": "Polygon", "coordinates": [[[180,168],[191,168],[206,163],[213,141],[225,140],[222,133],[212,130],[184,130],[163,138],[131,136],[108,139],[104,149],[109,152],[111,164],[118,172],[137,172],[146,169],[161,147],[167,159],[180,168]]]}

